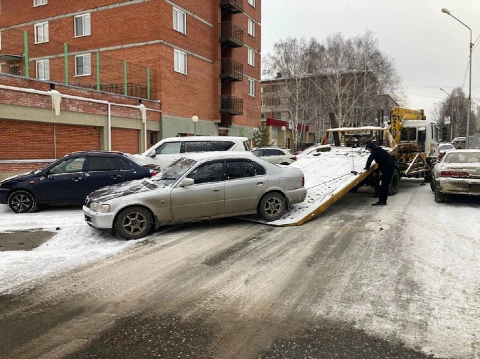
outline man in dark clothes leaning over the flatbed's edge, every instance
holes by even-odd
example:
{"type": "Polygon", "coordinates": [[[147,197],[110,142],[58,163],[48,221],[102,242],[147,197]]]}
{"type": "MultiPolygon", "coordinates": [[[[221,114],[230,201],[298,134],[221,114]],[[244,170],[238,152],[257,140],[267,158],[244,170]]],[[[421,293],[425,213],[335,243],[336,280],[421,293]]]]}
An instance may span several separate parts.
{"type": "Polygon", "coordinates": [[[367,142],[366,149],[370,152],[368,159],[366,160],[365,170],[370,168],[371,162],[375,160],[375,163],[380,169],[380,193],[378,202],[373,203],[372,206],[386,206],[386,198],[388,197],[388,186],[393,176],[393,170],[395,169],[395,162],[393,157],[385,151],[383,148],[378,147],[373,142],[367,142]]]}

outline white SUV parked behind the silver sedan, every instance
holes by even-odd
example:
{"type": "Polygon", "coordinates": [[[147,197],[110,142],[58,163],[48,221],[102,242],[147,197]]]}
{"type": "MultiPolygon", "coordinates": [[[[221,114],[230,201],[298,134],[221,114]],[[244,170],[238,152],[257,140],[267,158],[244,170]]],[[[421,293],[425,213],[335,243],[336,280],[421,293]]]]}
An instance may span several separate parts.
{"type": "Polygon", "coordinates": [[[193,136],[164,138],[139,155],[145,163],[169,166],[180,157],[194,152],[250,151],[248,138],[234,136],[193,136]]]}

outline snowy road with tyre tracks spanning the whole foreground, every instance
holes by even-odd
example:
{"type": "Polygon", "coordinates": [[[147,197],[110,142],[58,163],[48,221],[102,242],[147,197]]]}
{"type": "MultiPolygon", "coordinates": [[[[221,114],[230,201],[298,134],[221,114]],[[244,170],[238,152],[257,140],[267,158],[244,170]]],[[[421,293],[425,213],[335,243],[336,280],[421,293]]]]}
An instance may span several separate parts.
{"type": "Polygon", "coordinates": [[[420,183],[300,227],[229,219],[143,242],[74,210],[1,212],[2,230],[61,230],[0,252],[0,356],[478,359],[480,199],[436,204],[420,183]]]}

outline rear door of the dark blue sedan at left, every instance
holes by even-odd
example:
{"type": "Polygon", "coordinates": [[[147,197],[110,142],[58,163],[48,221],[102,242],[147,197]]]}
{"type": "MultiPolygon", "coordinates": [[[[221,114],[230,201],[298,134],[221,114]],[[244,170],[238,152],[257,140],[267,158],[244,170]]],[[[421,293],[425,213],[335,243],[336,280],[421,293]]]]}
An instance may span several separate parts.
{"type": "Polygon", "coordinates": [[[97,189],[120,183],[123,173],[119,171],[116,159],[112,155],[89,155],[83,184],[83,196],[97,189]]]}

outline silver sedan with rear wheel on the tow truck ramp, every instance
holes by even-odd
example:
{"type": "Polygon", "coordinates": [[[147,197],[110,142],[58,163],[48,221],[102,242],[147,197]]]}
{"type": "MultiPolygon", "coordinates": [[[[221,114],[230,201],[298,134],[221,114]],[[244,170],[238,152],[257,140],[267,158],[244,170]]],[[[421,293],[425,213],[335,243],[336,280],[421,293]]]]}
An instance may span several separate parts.
{"type": "Polygon", "coordinates": [[[83,212],[93,228],[138,239],[170,223],[256,213],[274,221],[305,199],[303,186],[298,168],[249,152],[203,153],[182,157],[155,177],[95,191],[83,212]]]}

